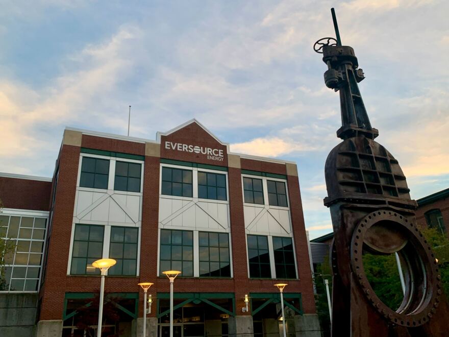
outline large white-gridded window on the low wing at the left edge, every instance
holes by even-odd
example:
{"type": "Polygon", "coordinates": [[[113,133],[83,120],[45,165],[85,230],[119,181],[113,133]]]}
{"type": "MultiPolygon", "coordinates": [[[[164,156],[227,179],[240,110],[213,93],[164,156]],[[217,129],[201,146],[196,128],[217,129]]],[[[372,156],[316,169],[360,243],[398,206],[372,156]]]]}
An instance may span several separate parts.
{"type": "Polygon", "coordinates": [[[0,215],[0,239],[15,246],[4,256],[0,291],[38,291],[46,227],[45,218],[0,215]]]}

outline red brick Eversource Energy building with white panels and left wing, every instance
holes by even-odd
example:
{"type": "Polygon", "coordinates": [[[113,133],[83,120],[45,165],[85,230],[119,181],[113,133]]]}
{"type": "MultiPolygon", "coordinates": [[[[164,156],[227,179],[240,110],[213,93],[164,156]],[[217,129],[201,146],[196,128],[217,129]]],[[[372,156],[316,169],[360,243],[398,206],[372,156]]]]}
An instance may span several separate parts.
{"type": "Polygon", "coordinates": [[[53,178],[2,174],[0,198],[0,235],[16,240],[0,284],[3,335],[93,332],[100,258],[117,261],[104,336],[142,335],[139,282],[154,283],[147,335],[168,336],[166,270],[182,271],[175,336],[279,335],[275,283],[288,283],[289,335],[320,335],[296,165],[232,154],[194,119],[156,140],[66,128],[53,178]],[[14,330],[27,305],[35,326],[14,330]]]}

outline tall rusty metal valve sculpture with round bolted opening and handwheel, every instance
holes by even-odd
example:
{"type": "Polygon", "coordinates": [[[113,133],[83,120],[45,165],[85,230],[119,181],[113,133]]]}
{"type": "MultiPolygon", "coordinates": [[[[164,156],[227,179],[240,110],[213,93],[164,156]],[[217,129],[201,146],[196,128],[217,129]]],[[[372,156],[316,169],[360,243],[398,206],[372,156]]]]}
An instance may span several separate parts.
{"type": "Polygon", "coordinates": [[[394,157],[374,140],[358,84],[365,77],[350,46],[336,39],[314,45],[328,65],[326,86],[340,93],[343,141],[326,160],[328,197],[334,228],[332,336],[449,336],[449,306],[442,293],[434,253],[416,226],[417,204],[394,157]],[[404,300],[394,309],[373,291],[362,254],[399,257],[404,300]]]}

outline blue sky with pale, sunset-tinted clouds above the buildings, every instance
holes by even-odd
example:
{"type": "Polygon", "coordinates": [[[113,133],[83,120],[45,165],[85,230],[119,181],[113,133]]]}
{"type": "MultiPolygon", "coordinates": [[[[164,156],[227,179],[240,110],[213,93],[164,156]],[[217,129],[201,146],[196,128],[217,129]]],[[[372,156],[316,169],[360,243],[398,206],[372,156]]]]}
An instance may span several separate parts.
{"type": "Polygon", "coordinates": [[[52,176],[66,126],[126,135],[131,105],[130,136],[196,118],[233,152],[295,161],[310,237],[331,232],[339,97],[312,46],[335,7],[411,197],[449,187],[446,0],[0,3],[0,172],[52,176]]]}

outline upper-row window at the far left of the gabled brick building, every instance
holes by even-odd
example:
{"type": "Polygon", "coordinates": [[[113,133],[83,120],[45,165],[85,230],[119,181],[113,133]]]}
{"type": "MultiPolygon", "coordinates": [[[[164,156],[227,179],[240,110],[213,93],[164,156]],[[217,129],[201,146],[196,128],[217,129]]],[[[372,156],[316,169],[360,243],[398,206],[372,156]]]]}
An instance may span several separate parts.
{"type": "Polygon", "coordinates": [[[81,164],[81,187],[108,188],[109,160],[83,157],[81,164]]]}

